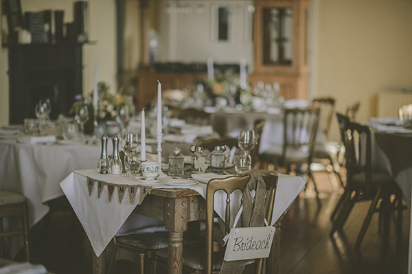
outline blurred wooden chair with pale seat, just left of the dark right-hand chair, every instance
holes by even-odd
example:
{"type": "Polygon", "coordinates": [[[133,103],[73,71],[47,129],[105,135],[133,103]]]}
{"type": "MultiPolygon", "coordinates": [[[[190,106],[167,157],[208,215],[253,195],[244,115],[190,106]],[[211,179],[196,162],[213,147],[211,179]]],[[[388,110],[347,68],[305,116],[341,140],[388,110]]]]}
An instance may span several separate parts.
{"type": "MultiPolygon", "coordinates": [[[[341,146],[337,142],[328,141],[330,124],[332,122],[332,117],[334,117],[334,105],[334,98],[315,98],[312,100],[312,106],[319,107],[320,109],[319,133],[323,134],[325,140],[317,142],[314,145],[313,162],[311,165],[313,172],[328,172],[335,174],[339,179],[341,186],[345,187],[341,178],[340,165],[338,162],[341,146]]],[[[318,139],[320,139],[319,136],[318,139]]],[[[333,182],[334,181],[331,181],[331,183],[333,182]]]]}

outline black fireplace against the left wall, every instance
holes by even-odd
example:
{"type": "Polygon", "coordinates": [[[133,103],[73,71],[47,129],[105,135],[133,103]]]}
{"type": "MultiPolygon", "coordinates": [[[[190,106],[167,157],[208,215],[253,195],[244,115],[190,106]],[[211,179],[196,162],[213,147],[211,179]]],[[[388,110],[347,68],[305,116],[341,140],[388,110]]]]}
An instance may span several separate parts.
{"type": "Polygon", "coordinates": [[[82,94],[81,44],[10,45],[8,58],[10,124],[36,117],[41,98],[52,103],[51,119],[69,115],[75,95],[82,94]]]}

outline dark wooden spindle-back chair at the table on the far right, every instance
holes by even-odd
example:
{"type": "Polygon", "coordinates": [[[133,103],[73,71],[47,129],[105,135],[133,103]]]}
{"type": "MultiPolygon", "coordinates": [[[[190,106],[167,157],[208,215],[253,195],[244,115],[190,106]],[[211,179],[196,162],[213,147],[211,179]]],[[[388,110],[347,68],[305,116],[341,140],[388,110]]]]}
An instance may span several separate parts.
{"type": "MultiPolygon", "coordinates": [[[[337,216],[333,220],[330,235],[332,236],[336,230],[343,228],[355,203],[371,201],[356,240],[355,248],[359,249],[374,212],[380,212],[384,235],[388,233],[392,206],[391,195],[395,195],[395,201],[398,201],[397,215],[398,218],[402,218],[402,191],[387,172],[371,169],[371,132],[369,127],[351,122],[349,117],[339,117],[339,120],[346,150],[347,185],[338,205],[336,205],[334,214],[337,216]]],[[[398,228],[397,231],[400,229],[398,228]]]]}

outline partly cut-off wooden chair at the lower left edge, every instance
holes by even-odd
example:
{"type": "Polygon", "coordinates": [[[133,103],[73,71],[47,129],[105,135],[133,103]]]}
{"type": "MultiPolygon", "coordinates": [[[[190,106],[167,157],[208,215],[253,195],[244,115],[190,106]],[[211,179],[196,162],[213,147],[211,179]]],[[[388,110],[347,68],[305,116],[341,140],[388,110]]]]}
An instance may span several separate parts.
{"type": "Polygon", "coordinates": [[[3,238],[10,236],[23,236],[26,258],[27,261],[30,261],[27,200],[25,196],[19,193],[11,192],[9,190],[0,190],[0,249],[2,257],[4,256],[3,238]],[[4,231],[3,218],[12,216],[20,216],[22,228],[4,231]]]}

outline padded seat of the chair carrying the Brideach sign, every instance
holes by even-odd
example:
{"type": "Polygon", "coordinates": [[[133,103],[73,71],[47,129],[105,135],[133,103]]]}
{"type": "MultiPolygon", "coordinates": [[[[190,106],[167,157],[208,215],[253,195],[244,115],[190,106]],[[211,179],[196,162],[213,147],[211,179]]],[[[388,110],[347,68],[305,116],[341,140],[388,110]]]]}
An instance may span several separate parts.
{"type": "MultiPolygon", "coordinates": [[[[160,249],[156,251],[156,255],[164,260],[168,259],[168,249],[160,249]]],[[[222,269],[223,258],[225,257],[225,252],[214,252],[212,253],[212,264],[213,270],[218,271],[222,269]]],[[[247,265],[253,264],[255,260],[248,260],[247,265]]],[[[205,244],[192,244],[185,245],[183,243],[183,265],[198,270],[206,269],[206,255],[205,255],[205,244]]]]}

